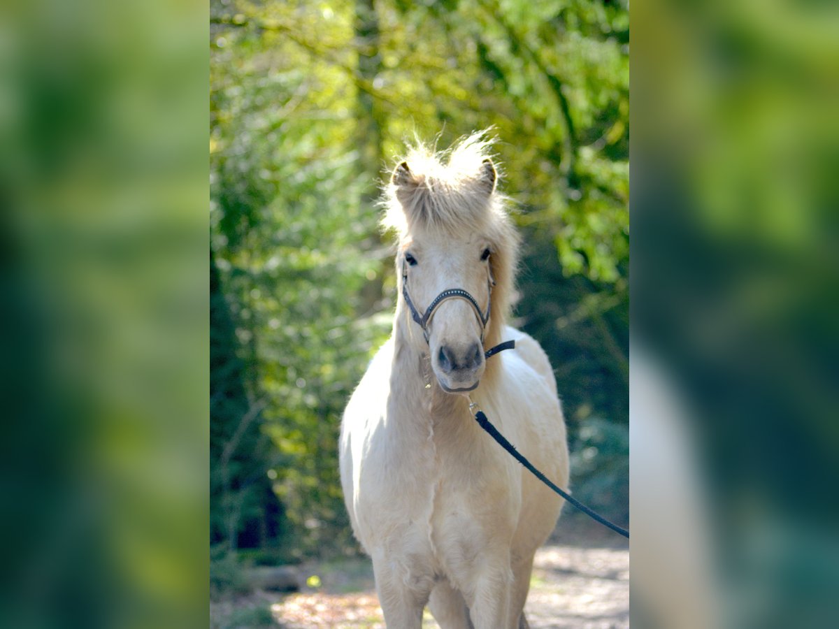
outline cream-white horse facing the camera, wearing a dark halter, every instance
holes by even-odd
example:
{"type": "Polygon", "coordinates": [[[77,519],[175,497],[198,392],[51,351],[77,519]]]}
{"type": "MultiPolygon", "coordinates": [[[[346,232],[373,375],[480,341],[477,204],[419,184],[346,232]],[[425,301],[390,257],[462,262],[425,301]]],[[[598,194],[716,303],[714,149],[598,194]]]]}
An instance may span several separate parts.
{"type": "Polygon", "coordinates": [[[476,133],[447,153],[414,147],[384,190],[400,298],[393,335],[347,404],[340,454],[388,627],[419,628],[426,604],[444,628],[528,626],[534,553],[563,501],[482,432],[467,396],[567,486],[550,363],[505,325],[519,238],[487,146],[476,133]],[[487,360],[502,340],[515,349],[487,360]]]}

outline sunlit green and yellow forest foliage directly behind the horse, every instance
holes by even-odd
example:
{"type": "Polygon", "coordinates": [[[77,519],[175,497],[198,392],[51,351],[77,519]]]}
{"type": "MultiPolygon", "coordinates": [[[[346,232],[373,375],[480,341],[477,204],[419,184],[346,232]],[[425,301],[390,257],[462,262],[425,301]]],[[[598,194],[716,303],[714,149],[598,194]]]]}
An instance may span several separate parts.
{"type": "MultiPolygon", "coordinates": [[[[352,548],[336,440],[396,300],[378,182],[414,134],[443,148],[492,126],[527,243],[517,323],[550,354],[572,450],[592,456],[576,494],[625,523],[626,3],[222,0],[210,44],[212,299],[232,322],[219,364],[242,385],[211,400],[213,476],[248,433],[237,457],[284,512],[272,543],[352,548]],[[260,434],[270,451],[250,450],[260,434]]],[[[213,481],[216,543],[248,537],[223,522],[258,484],[213,481]]]]}

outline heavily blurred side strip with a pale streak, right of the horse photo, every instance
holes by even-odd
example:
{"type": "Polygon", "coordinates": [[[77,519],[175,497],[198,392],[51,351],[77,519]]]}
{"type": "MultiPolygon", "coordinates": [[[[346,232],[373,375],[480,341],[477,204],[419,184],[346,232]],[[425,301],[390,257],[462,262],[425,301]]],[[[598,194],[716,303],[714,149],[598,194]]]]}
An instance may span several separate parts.
{"type": "Polygon", "coordinates": [[[633,626],[832,626],[839,5],[636,4],[632,107],[633,626]]]}

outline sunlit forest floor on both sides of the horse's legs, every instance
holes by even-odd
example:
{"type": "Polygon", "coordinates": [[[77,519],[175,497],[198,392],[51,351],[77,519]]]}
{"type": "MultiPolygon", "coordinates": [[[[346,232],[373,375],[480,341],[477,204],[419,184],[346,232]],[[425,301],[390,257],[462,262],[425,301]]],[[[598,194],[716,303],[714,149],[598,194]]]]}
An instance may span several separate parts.
{"type": "MultiPolygon", "coordinates": [[[[301,580],[308,582],[300,592],[258,591],[214,603],[212,626],[384,627],[369,559],[310,563],[300,569],[301,580]]],[[[627,628],[628,542],[606,529],[576,526],[564,531],[560,525],[536,554],[524,609],[532,629],[627,628]]],[[[426,610],[423,627],[436,626],[426,610]]]]}

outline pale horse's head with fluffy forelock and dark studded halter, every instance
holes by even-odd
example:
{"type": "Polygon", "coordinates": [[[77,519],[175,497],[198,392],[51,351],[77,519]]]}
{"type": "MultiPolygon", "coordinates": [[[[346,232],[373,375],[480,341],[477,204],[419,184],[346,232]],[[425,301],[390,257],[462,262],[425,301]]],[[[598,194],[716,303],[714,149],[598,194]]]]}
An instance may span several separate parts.
{"type": "Polygon", "coordinates": [[[517,245],[483,148],[477,141],[461,144],[446,164],[414,151],[394,169],[386,190],[390,222],[400,232],[403,308],[422,332],[409,336],[429,353],[440,388],[452,393],[481,382],[484,351],[497,340],[508,309],[517,245]]]}

